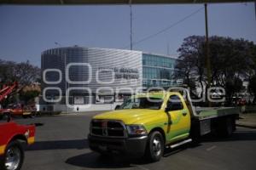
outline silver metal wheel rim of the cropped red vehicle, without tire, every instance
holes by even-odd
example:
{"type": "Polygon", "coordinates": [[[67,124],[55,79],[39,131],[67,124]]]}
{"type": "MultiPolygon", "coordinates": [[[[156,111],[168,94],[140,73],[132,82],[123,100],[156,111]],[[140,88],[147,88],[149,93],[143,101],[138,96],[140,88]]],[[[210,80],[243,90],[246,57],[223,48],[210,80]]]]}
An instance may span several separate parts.
{"type": "Polygon", "coordinates": [[[11,147],[7,150],[5,167],[8,170],[15,170],[20,165],[20,149],[17,147],[11,147]]]}

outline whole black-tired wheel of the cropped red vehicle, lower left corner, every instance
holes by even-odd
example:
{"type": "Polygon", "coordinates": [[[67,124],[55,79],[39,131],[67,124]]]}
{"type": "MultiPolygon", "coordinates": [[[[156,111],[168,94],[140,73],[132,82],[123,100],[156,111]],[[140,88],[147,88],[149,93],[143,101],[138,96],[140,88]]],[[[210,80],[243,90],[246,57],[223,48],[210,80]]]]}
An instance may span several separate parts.
{"type": "Polygon", "coordinates": [[[0,160],[0,169],[20,170],[24,161],[24,150],[19,141],[11,141],[5,149],[3,158],[0,160]]]}

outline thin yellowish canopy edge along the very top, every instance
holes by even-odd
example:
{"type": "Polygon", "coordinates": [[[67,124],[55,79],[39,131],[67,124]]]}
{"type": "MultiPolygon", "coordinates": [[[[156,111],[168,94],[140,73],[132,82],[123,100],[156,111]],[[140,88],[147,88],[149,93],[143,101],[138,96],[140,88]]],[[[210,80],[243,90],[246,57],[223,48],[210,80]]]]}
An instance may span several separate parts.
{"type": "Polygon", "coordinates": [[[255,0],[0,0],[1,4],[168,4],[245,2],[255,2],[255,0]]]}

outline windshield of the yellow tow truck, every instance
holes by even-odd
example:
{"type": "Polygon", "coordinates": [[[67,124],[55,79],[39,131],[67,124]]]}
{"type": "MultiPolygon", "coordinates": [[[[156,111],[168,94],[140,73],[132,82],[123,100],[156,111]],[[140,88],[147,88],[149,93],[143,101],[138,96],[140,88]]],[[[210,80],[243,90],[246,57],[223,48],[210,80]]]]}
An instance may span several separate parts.
{"type": "Polygon", "coordinates": [[[131,98],[127,99],[120,109],[153,109],[159,110],[163,103],[159,98],[131,98]]]}

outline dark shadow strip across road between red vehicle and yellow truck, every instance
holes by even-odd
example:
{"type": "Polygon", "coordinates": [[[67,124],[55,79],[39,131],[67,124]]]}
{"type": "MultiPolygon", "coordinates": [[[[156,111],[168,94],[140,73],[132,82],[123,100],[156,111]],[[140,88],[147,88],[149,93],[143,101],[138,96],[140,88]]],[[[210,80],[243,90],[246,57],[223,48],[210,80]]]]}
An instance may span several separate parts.
{"type": "Polygon", "coordinates": [[[88,148],[87,139],[39,141],[29,146],[26,150],[65,150],[88,148]]]}

